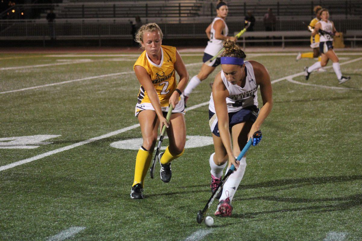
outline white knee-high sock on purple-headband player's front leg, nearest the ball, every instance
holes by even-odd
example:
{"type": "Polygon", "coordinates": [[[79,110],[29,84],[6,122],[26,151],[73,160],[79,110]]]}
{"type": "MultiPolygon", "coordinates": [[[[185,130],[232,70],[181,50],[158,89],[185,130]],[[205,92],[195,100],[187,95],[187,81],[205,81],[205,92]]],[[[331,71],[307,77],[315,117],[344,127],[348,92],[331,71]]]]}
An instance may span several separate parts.
{"type": "Polygon", "coordinates": [[[223,187],[223,193],[219,199],[220,201],[225,200],[226,198],[230,198],[230,202],[231,202],[237,188],[239,187],[241,179],[243,179],[246,167],[247,167],[246,158],[243,157],[240,160],[239,168],[237,168],[237,170],[235,172],[233,172],[229,176],[229,178],[226,180],[224,187],[223,187]]]}

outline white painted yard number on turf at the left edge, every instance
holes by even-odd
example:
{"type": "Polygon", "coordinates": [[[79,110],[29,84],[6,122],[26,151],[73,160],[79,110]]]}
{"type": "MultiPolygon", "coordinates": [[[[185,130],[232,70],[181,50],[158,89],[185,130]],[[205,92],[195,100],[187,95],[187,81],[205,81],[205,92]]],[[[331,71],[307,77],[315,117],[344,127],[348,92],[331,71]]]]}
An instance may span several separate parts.
{"type": "Polygon", "coordinates": [[[0,149],[33,149],[39,145],[47,145],[47,139],[60,137],[60,135],[27,135],[23,137],[0,138],[0,149]]]}

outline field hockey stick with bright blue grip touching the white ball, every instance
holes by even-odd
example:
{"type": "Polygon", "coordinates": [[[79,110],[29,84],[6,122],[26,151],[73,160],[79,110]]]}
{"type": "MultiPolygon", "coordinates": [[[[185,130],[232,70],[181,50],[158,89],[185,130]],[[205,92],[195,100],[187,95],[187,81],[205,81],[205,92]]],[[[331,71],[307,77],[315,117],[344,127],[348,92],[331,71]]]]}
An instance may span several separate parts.
{"type": "MultiPolygon", "coordinates": [[[[259,137],[261,136],[261,131],[258,130],[257,132],[255,132],[253,134],[253,138],[254,137],[259,137]]],[[[247,142],[247,144],[244,146],[243,150],[241,150],[239,156],[237,156],[236,160],[240,162],[241,158],[243,158],[243,156],[245,155],[245,153],[249,150],[249,148],[252,146],[252,142],[253,142],[253,138],[250,138],[249,141],[247,142]]],[[[228,179],[228,177],[231,175],[231,173],[233,173],[233,171],[235,171],[235,166],[231,165],[230,169],[227,171],[226,175],[224,176],[223,180],[220,182],[218,188],[216,188],[216,190],[211,194],[211,197],[209,199],[209,201],[207,201],[205,207],[203,208],[203,210],[199,210],[197,212],[197,222],[198,223],[202,223],[202,221],[205,219],[205,215],[207,210],[209,210],[212,202],[214,202],[214,199],[216,197],[216,195],[218,195],[218,193],[220,192],[220,190],[223,188],[226,180],[228,179]]]]}

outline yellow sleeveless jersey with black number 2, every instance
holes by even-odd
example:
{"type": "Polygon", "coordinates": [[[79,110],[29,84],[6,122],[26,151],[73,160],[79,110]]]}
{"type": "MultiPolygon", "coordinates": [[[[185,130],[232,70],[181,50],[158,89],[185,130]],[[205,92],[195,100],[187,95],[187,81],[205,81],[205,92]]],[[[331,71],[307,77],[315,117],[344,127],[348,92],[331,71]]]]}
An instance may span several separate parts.
{"type": "MultiPolygon", "coordinates": [[[[150,76],[153,86],[156,89],[160,99],[161,107],[167,107],[169,98],[177,87],[176,70],[174,63],[176,62],[176,48],[172,46],[161,45],[161,63],[157,65],[148,57],[146,50],[138,57],[133,69],[136,65],[146,69],[150,76]]],[[[151,103],[147,96],[147,92],[141,85],[138,93],[138,104],[151,103]]]]}

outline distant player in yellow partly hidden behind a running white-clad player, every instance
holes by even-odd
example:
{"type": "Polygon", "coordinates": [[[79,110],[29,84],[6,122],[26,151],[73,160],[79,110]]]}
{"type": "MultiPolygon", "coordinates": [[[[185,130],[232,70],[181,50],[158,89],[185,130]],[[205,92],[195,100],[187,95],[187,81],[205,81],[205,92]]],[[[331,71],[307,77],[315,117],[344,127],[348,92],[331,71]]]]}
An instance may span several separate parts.
{"type": "MultiPolygon", "coordinates": [[[[313,27],[315,27],[316,23],[320,20],[320,10],[322,10],[321,6],[315,6],[313,11],[316,14],[316,17],[312,19],[312,21],[309,23],[308,30],[313,32],[313,27]]],[[[307,52],[307,53],[298,53],[296,56],[296,60],[300,60],[302,58],[317,58],[318,61],[321,60],[320,52],[319,52],[319,34],[316,34],[315,36],[311,36],[311,48],[313,49],[313,52],[307,52]]],[[[317,71],[325,72],[323,68],[317,69],[317,71]]]]}

